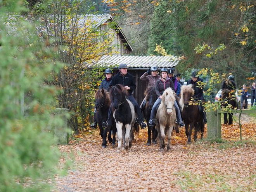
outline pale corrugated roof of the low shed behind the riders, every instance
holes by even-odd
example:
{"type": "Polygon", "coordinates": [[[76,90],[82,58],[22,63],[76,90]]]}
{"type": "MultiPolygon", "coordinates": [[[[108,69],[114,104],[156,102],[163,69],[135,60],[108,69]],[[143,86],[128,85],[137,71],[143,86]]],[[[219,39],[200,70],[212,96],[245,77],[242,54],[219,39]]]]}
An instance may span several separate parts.
{"type": "Polygon", "coordinates": [[[170,68],[177,66],[179,60],[177,56],[103,56],[93,64],[101,67],[117,67],[121,63],[128,67],[148,68],[157,66],[158,68],[170,68]]]}

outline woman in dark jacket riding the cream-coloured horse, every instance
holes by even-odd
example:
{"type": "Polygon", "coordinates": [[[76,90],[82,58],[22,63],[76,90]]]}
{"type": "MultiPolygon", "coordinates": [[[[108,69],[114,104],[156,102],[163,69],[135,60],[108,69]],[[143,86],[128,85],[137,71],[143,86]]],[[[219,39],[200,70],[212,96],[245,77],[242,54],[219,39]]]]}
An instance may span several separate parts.
{"type": "MultiPolygon", "coordinates": [[[[164,90],[166,90],[166,88],[168,88],[168,87],[171,87],[174,90],[173,81],[167,76],[167,73],[168,73],[167,69],[166,68],[161,69],[160,73],[161,73],[161,78],[159,78],[159,80],[157,80],[157,82],[156,82],[156,94],[157,94],[158,98],[157,98],[156,102],[154,103],[154,106],[151,110],[149,126],[155,125],[155,122],[154,122],[154,118],[156,116],[155,109],[156,109],[157,104],[159,104],[162,100],[162,94],[163,94],[164,90]]],[[[180,110],[179,110],[179,107],[178,107],[178,104],[176,103],[176,101],[174,102],[174,105],[176,107],[176,111],[178,112],[178,115],[177,115],[178,124],[180,127],[183,127],[185,125],[182,122],[180,110]]]]}

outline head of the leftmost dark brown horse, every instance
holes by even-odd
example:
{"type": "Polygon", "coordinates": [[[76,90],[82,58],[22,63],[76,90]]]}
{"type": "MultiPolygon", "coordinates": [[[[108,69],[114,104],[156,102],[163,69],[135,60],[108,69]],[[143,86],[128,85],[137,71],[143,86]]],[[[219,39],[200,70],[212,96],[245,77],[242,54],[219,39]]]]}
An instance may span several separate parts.
{"type": "Polygon", "coordinates": [[[107,105],[108,107],[110,106],[110,97],[109,93],[105,91],[104,89],[99,89],[94,95],[95,97],[95,109],[97,111],[100,110],[101,107],[107,105]]]}

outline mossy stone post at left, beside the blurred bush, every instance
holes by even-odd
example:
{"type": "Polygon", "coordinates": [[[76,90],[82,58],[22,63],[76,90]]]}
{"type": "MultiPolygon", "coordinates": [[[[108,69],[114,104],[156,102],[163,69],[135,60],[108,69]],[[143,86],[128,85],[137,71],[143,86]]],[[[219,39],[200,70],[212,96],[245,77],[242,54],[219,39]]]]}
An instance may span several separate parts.
{"type": "Polygon", "coordinates": [[[67,145],[68,132],[67,132],[67,112],[68,109],[56,108],[55,109],[55,127],[54,127],[54,144],[67,145]],[[62,121],[58,121],[61,119],[62,121]]]}

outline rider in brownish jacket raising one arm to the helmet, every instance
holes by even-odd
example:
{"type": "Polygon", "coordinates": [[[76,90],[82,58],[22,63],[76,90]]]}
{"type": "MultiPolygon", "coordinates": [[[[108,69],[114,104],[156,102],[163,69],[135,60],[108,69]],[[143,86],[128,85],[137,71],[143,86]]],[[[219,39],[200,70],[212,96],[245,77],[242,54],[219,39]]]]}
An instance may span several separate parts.
{"type": "MultiPolygon", "coordinates": [[[[159,80],[161,77],[158,75],[157,72],[158,67],[150,67],[147,72],[145,72],[141,77],[140,80],[147,81],[147,86],[155,86],[156,81],[159,80]],[[151,72],[150,72],[151,71],[151,72]]],[[[146,100],[146,97],[143,99],[142,103],[140,104],[140,110],[143,111],[143,103],[146,100]]]]}

